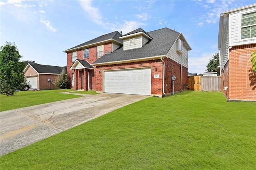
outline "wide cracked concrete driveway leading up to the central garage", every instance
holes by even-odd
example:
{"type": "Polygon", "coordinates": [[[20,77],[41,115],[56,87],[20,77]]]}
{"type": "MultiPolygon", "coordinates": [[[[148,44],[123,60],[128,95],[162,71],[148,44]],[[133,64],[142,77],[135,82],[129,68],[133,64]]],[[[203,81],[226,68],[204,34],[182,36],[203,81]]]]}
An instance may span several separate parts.
{"type": "Polygon", "coordinates": [[[148,97],[101,93],[0,112],[0,156],[148,97]]]}

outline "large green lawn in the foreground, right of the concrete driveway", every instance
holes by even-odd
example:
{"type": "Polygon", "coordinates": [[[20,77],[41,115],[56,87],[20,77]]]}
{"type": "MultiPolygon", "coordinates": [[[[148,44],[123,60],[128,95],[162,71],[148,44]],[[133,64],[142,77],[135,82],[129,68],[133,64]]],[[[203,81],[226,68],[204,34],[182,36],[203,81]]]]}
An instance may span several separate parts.
{"type": "Polygon", "coordinates": [[[150,97],[1,156],[5,169],[255,169],[256,103],[150,97]]]}

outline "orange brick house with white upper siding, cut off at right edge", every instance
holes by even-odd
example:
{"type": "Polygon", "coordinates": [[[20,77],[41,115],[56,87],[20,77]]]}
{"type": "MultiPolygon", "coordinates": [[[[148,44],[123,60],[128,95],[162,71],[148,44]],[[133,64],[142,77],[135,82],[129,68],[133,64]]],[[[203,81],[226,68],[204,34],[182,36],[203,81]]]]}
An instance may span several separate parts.
{"type": "Polygon", "coordinates": [[[256,101],[251,54],[256,50],[256,4],[220,14],[221,89],[228,101],[256,101]]]}

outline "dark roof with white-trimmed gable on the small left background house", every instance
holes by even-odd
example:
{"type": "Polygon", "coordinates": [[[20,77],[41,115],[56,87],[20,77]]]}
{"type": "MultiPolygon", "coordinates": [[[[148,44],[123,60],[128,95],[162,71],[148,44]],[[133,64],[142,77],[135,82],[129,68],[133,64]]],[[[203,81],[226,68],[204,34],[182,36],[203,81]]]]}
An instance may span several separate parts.
{"type": "MultiPolygon", "coordinates": [[[[24,69],[24,73],[28,70],[29,67],[32,67],[37,73],[43,74],[60,74],[63,67],[53,66],[53,65],[41,65],[32,61],[25,61],[28,63],[24,69]]],[[[64,66],[65,68],[66,66],[64,66]]]]}

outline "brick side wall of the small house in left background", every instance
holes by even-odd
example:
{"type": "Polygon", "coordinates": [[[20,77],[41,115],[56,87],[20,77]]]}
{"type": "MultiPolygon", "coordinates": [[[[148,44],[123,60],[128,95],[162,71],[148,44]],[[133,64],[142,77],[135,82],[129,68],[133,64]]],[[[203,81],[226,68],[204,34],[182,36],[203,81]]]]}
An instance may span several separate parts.
{"type": "Polygon", "coordinates": [[[39,85],[37,87],[38,90],[48,90],[48,89],[59,89],[54,82],[58,75],[50,75],[50,74],[39,74],[39,85]],[[48,82],[48,79],[52,80],[52,83],[48,82]]]}

